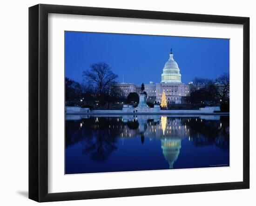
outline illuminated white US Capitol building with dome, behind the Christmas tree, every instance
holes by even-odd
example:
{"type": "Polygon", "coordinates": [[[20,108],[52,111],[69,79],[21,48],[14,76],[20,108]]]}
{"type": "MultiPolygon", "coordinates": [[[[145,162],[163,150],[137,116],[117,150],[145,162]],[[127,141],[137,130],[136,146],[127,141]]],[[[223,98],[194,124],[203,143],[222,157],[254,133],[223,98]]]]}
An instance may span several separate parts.
{"type": "MultiPolygon", "coordinates": [[[[181,104],[182,97],[189,96],[190,88],[193,83],[182,83],[180,68],[173,58],[172,50],[169,55],[169,60],[163,67],[161,83],[154,84],[150,81],[149,84],[145,84],[145,92],[148,98],[156,103],[161,103],[162,93],[164,92],[169,104],[181,104]]],[[[129,93],[135,92],[140,94],[141,92],[141,85],[123,82],[119,83],[117,86],[121,90],[121,96],[127,97],[129,93]]]]}

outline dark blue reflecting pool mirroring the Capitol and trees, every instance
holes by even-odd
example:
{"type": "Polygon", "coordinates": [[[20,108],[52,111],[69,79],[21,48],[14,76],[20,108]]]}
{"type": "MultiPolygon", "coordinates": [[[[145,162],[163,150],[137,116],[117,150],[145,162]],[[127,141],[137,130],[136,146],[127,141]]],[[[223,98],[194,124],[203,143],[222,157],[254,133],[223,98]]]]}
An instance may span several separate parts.
{"type": "Polygon", "coordinates": [[[229,166],[229,116],[66,115],[65,173],[229,166]]]}

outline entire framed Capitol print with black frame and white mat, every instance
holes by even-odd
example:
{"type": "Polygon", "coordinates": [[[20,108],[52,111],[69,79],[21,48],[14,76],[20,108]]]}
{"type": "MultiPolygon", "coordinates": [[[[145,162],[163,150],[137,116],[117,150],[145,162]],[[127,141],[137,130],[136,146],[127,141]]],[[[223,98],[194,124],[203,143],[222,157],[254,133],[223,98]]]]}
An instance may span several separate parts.
{"type": "Polygon", "coordinates": [[[29,198],[249,188],[249,18],[29,8],[29,198]]]}

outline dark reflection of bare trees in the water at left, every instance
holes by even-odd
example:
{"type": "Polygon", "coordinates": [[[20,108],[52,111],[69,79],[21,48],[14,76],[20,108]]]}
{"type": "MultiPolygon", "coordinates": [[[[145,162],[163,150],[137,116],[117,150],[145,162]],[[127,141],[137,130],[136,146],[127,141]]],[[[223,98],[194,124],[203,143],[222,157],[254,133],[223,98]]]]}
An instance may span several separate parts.
{"type": "Polygon", "coordinates": [[[116,149],[121,121],[111,118],[89,118],[66,122],[66,147],[81,142],[82,152],[95,161],[105,161],[116,149]],[[111,126],[110,126],[111,125],[111,126]]]}

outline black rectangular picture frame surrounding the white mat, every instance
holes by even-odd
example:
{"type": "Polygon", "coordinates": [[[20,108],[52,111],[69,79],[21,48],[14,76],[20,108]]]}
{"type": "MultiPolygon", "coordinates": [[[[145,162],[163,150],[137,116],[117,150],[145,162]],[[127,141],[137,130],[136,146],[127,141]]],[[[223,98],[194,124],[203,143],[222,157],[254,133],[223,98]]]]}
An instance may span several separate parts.
{"type": "Polygon", "coordinates": [[[249,188],[248,17],[45,4],[39,4],[29,8],[29,199],[38,202],[48,202],[246,188],[249,188]],[[48,193],[48,13],[243,25],[243,181],[48,193]]]}

